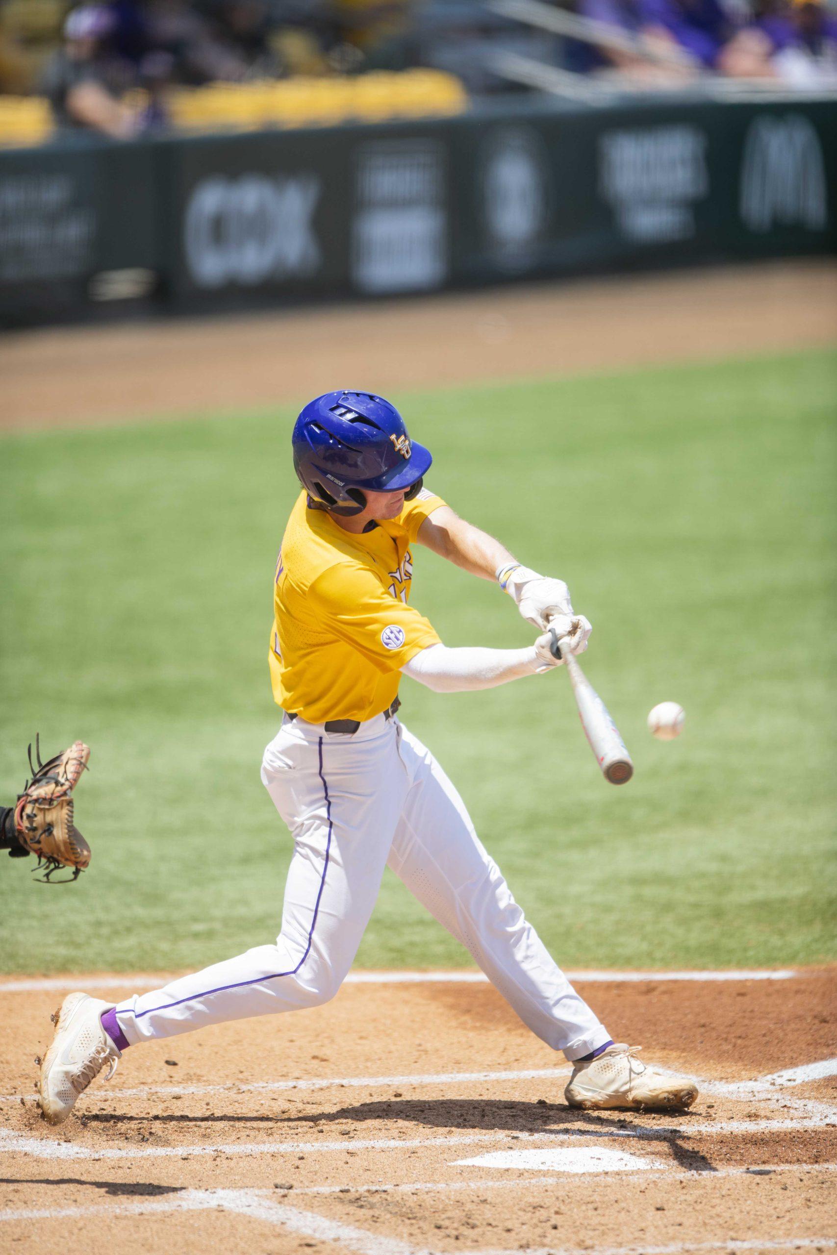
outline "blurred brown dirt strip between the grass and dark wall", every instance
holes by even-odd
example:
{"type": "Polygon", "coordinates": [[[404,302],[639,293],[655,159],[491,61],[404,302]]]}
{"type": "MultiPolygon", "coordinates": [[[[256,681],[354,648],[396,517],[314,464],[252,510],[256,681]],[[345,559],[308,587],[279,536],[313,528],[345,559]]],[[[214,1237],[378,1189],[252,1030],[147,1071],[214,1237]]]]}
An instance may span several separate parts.
{"type": "Polygon", "coordinates": [[[837,341],[836,290],[837,264],[809,260],[15,333],[0,429],[299,407],[335,380],[389,393],[816,348],[837,341]]]}

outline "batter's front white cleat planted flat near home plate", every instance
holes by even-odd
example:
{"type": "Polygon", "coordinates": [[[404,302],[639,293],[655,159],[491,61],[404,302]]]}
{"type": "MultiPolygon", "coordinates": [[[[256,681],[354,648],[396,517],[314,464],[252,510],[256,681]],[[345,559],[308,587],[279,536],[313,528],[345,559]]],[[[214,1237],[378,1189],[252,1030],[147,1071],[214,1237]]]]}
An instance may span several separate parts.
{"type": "Polygon", "coordinates": [[[640,1063],[639,1045],[609,1045],[590,1063],[575,1063],[563,1097],[571,1107],[587,1111],[656,1108],[678,1111],[691,1107],[698,1097],[694,1081],[668,1077],[640,1063]]]}

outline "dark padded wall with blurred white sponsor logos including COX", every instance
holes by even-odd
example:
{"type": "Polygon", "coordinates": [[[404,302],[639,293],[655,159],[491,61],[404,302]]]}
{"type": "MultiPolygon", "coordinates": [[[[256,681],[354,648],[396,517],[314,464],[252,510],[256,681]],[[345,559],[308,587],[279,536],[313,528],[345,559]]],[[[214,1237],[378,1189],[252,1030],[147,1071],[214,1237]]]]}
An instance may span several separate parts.
{"type": "Polygon", "coordinates": [[[0,152],[0,324],[837,252],[837,100],[0,152]]]}

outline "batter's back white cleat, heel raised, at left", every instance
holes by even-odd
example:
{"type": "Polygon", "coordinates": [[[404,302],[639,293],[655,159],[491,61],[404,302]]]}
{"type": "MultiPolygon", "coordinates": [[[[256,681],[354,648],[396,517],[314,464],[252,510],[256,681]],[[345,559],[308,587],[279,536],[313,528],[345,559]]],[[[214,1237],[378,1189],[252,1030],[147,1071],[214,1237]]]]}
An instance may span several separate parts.
{"type": "Polygon", "coordinates": [[[53,1015],[55,1037],[40,1065],[38,1106],[50,1124],[63,1123],[102,1068],[109,1064],[105,1081],[117,1071],[122,1052],[102,1028],[99,1017],[113,1003],[87,994],[69,994],[53,1015]]]}

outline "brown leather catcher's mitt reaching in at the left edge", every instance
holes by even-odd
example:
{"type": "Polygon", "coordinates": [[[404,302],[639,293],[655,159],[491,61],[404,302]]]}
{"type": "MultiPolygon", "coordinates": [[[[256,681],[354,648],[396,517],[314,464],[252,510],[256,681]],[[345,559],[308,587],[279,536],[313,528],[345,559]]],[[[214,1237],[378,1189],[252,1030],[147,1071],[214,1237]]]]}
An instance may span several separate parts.
{"type": "Polygon", "coordinates": [[[10,822],[10,817],[6,817],[6,832],[18,842],[18,850],[13,847],[10,852],[36,855],[38,868],[45,867],[44,875],[38,880],[49,882],[59,867],[73,870],[73,875],[64,880],[78,880],[90,862],[90,847],[73,823],[73,789],[87,767],[90,750],[82,740],[77,740],[63,754],[41,763],[40,738],[36,738],[35,757],[38,768],[33,763],[30,745],[29,766],[33,777],[18,797],[14,821],[10,822]]]}

